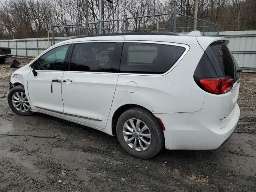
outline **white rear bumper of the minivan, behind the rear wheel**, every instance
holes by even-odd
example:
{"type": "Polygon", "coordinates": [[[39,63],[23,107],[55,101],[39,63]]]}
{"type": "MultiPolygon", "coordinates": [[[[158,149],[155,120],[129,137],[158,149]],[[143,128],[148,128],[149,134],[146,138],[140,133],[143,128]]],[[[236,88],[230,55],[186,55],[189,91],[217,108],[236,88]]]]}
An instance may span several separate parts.
{"type": "MultiPolygon", "coordinates": [[[[240,116],[236,104],[224,127],[207,125],[202,112],[154,114],[164,123],[165,146],[170,150],[210,150],[220,147],[234,132],[240,116]]],[[[209,114],[210,116],[210,114],[209,114]]]]}

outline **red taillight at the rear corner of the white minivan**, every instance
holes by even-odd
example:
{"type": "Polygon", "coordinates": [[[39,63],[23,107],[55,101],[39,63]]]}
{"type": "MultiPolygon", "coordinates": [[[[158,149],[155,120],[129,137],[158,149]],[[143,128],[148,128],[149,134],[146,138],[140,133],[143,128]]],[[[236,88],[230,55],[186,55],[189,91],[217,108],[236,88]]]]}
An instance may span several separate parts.
{"type": "Polygon", "coordinates": [[[213,94],[229,92],[234,82],[230,77],[196,78],[195,80],[202,89],[213,94]]]}

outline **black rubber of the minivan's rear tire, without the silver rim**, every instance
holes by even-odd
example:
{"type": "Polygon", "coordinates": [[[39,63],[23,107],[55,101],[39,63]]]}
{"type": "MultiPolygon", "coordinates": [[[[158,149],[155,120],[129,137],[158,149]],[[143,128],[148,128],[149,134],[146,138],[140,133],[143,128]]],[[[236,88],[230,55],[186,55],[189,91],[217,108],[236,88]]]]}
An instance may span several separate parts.
{"type": "MultiPolygon", "coordinates": [[[[151,112],[143,108],[131,108],[125,111],[117,121],[116,134],[122,148],[124,148],[124,150],[128,152],[128,154],[136,158],[151,158],[158,154],[158,152],[160,152],[160,150],[164,147],[164,133],[160,126],[160,123],[151,112]],[[146,126],[148,126],[151,134],[151,144],[146,150],[134,150],[126,143],[123,136],[123,126],[125,122],[129,119],[138,119],[146,124],[146,126]]],[[[139,140],[139,138],[135,139],[139,140]]]]}

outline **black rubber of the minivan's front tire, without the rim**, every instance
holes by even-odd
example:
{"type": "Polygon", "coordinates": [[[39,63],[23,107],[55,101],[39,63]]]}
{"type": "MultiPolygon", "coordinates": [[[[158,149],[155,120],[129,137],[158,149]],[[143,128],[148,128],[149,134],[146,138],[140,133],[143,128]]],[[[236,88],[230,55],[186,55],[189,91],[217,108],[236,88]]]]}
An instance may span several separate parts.
{"type": "Polygon", "coordinates": [[[24,89],[23,86],[18,85],[18,86],[16,86],[16,87],[12,88],[12,89],[9,91],[9,93],[8,93],[8,104],[9,104],[10,108],[11,108],[16,114],[18,114],[18,115],[23,115],[23,116],[32,115],[33,112],[30,111],[30,108],[29,108],[27,111],[22,112],[22,111],[17,110],[17,109],[14,107],[14,105],[12,104],[12,96],[13,96],[16,92],[23,92],[23,93],[25,94],[25,89],[24,89]]]}

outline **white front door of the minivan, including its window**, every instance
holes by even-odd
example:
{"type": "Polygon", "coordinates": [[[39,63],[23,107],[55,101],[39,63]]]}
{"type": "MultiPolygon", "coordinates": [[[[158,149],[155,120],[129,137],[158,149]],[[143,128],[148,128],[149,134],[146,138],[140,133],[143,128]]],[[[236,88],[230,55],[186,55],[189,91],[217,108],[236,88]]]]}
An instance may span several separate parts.
{"type": "Polygon", "coordinates": [[[58,46],[36,60],[38,72],[28,76],[28,94],[32,110],[64,118],[61,80],[69,45],[58,46]]]}

